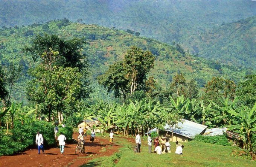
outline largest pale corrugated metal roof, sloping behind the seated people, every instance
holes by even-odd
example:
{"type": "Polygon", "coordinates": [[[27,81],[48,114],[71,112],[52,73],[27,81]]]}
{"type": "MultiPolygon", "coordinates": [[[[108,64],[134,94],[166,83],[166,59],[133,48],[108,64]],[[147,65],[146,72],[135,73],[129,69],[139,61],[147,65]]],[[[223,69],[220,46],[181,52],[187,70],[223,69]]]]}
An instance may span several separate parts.
{"type": "MultiPolygon", "coordinates": [[[[172,131],[172,128],[169,127],[169,125],[165,125],[165,130],[166,131],[172,131]]],[[[176,134],[179,134],[181,136],[185,136],[189,139],[192,139],[196,134],[202,133],[207,126],[197,124],[192,121],[188,121],[186,119],[183,119],[181,122],[178,122],[178,126],[173,128],[173,132],[176,134]]],[[[152,129],[148,133],[151,133],[153,131],[157,131],[157,128],[152,129]]]]}

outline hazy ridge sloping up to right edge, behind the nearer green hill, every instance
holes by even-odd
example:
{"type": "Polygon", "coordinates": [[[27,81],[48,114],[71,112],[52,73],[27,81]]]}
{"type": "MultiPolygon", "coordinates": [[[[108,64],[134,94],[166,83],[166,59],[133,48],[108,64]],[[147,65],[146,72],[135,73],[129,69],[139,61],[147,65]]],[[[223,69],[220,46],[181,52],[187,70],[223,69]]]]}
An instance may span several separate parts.
{"type": "Polygon", "coordinates": [[[207,31],[191,46],[198,55],[233,66],[256,69],[256,16],[207,31]],[[198,47],[198,48],[197,48],[198,47]]]}

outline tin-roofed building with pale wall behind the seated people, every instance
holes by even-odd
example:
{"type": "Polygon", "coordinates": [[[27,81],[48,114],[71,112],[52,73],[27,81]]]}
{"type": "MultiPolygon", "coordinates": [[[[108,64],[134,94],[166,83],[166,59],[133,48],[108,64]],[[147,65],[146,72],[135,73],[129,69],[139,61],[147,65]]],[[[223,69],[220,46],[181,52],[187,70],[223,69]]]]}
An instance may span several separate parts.
{"type": "MultiPolygon", "coordinates": [[[[175,142],[176,140],[178,142],[187,142],[189,139],[192,139],[196,134],[203,134],[206,128],[207,126],[205,125],[197,124],[195,122],[183,119],[181,122],[178,122],[177,127],[173,128],[174,137],[172,138],[171,142],[175,142]]],[[[165,135],[168,131],[167,134],[171,136],[172,127],[169,127],[169,125],[166,124],[164,129],[165,132],[162,133],[162,135],[165,135]]],[[[152,129],[148,133],[152,133],[154,131],[157,131],[157,128],[152,129]]]]}

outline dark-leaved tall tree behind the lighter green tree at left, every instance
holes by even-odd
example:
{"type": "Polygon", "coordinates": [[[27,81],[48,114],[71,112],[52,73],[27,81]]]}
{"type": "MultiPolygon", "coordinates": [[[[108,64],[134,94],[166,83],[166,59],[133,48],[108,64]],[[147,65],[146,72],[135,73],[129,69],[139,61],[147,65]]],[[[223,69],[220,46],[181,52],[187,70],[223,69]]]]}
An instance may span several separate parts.
{"type": "MultiPolygon", "coordinates": [[[[64,19],[65,20],[65,19],[64,19]]],[[[90,89],[88,87],[88,62],[85,54],[82,54],[82,48],[86,43],[79,38],[61,39],[56,35],[44,34],[44,36],[37,35],[33,40],[32,46],[25,46],[24,51],[32,55],[34,61],[50,49],[58,52],[58,57],[55,57],[55,64],[62,67],[78,67],[82,74],[82,88],[79,93],[81,98],[88,97],[90,89]]]]}

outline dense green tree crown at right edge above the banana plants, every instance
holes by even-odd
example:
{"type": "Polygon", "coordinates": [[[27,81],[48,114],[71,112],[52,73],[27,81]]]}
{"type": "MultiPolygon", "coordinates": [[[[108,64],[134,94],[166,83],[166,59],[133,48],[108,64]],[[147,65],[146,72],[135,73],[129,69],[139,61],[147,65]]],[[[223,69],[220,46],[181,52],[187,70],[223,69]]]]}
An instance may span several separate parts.
{"type": "Polygon", "coordinates": [[[252,107],[256,102],[256,75],[247,75],[245,79],[238,84],[236,95],[244,105],[252,107]]]}

